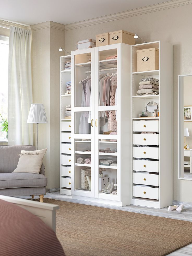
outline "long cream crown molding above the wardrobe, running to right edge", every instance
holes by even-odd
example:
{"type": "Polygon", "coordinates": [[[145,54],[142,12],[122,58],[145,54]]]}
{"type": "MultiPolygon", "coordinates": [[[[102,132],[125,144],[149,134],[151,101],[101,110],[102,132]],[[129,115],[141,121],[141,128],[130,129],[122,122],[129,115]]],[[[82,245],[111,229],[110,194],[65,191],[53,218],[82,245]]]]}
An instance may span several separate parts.
{"type": "Polygon", "coordinates": [[[75,28],[82,28],[82,27],[87,27],[91,25],[96,25],[99,23],[109,22],[113,20],[125,19],[132,16],[152,13],[154,11],[170,9],[170,8],[179,7],[182,5],[191,4],[191,3],[192,3],[192,0],[172,0],[172,1],[164,2],[160,4],[149,5],[146,7],[137,8],[129,11],[123,11],[121,13],[115,13],[112,15],[106,15],[103,17],[95,18],[95,19],[70,23],[65,25],[65,31],[75,29],[75,28]]]}

